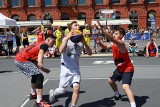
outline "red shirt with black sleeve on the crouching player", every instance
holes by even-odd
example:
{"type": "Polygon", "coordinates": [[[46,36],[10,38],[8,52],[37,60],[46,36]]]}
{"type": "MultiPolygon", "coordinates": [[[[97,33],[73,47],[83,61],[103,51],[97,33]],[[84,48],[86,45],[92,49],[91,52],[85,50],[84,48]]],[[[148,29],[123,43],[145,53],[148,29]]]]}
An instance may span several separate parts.
{"type": "Polygon", "coordinates": [[[43,49],[44,52],[48,50],[48,45],[45,42],[38,42],[32,44],[21,50],[15,57],[19,62],[34,61],[38,58],[39,50],[43,49]]]}

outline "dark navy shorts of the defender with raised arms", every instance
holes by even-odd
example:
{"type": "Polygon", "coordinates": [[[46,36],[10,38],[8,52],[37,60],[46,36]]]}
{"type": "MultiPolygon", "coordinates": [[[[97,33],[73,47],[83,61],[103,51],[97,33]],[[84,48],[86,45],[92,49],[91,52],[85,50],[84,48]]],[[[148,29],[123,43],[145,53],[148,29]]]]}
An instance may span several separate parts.
{"type": "Polygon", "coordinates": [[[118,69],[115,69],[113,74],[110,76],[110,79],[114,82],[122,80],[122,84],[131,85],[133,74],[134,72],[121,73],[118,69]]]}

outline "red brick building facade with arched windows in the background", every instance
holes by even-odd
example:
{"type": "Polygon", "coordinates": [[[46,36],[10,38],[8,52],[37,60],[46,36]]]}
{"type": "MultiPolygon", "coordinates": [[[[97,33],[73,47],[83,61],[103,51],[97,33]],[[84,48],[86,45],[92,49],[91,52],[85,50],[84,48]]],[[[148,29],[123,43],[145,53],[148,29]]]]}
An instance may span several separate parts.
{"type": "Polygon", "coordinates": [[[16,20],[99,19],[99,10],[115,9],[115,19],[130,18],[127,28],[160,26],[160,0],[0,0],[0,13],[16,20]]]}

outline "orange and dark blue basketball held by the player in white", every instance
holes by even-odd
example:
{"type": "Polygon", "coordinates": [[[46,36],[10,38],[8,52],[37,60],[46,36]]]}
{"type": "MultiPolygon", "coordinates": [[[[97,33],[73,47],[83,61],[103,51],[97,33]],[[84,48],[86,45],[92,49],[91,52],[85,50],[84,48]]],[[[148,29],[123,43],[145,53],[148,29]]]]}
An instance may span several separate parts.
{"type": "Polygon", "coordinates": [[[73,43],[78,43],[82,40],[82,38],[83,38],[82,32],[80,30],[75,30],[74,35],[70,38],[70,40],[73,43]]]}

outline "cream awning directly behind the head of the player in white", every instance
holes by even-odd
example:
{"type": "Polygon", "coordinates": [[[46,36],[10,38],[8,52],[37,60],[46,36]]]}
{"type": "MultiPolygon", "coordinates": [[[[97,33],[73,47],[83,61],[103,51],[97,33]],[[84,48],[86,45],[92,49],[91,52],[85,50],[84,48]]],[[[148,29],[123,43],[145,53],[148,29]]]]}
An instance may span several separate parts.
{"type": "Polygon", "coordinates": [[[77,23],[80,26],[85,25],[84,20],[54,20],[52,26],[67,26],[68,23],[71,23],[72,21],[77,21],[77,23]]]}

